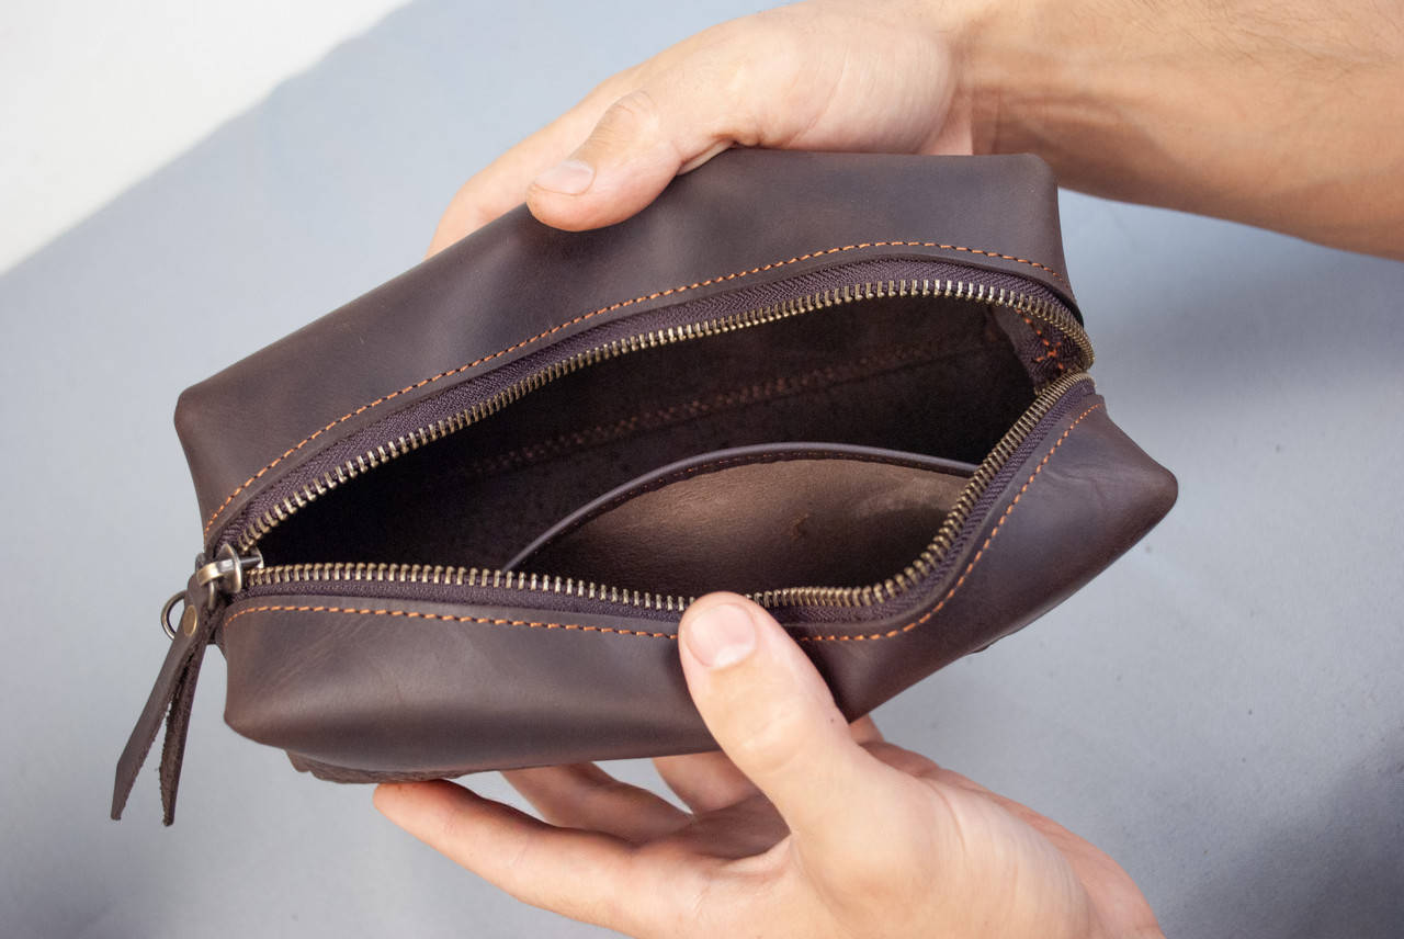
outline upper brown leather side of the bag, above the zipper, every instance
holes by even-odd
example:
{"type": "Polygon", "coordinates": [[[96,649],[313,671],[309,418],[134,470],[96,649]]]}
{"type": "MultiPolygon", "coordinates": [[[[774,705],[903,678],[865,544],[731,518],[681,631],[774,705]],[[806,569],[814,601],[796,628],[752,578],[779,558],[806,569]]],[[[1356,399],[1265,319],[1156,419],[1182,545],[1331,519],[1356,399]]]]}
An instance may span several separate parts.
{"type": "Polygon", "coordinates": [[[569,335],[882,258],[1012,274],[1075,312],[1038,157],[731,150],[605,229],[560,232],[518,206],[187,389],[176,424],[204,540],[329,444],[569,335]]]}

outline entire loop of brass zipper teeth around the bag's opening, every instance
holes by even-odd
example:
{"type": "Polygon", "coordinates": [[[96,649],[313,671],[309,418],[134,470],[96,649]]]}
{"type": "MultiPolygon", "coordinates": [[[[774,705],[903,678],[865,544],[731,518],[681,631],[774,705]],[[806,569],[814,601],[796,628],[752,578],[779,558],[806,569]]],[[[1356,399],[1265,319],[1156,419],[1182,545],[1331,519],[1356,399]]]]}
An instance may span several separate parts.
{"type": "MultiPolygon", "coordinates": [[[[388,463],[397,456],[448,437],[472,424],[490,417],[522,396],[570,375],[581,368],[604,362],[616,355],[637,352],[649,348],[658,348],[684,342],[708,335],[719,335],[736,330],[750,328],[765,323],[810,313],[835,306],[844,306],[858,300],[880,299],[887,296],[934,296],[969,300],[972,303],[988,303],[1002,306],[1031,319],[1039,319],[1057,328],[1071,338],[1078,349],[1081,366],[1077,372],[1064,375],[1040,389],[1039,396],[1019,421],[1001,438],[994,451],[976,470],[970,483],[966,484],[956,505],[946,515],[939,532],[921,556],[903,568],[901,573],[869,587],[792,587],[785,590],[764,591],[754,594],[753,599],[762,606],[783,605],[819,605],[819,606],[868,606],[900,595],[911,582],[920,580],[941,560],[949,550],[960,525],[969,515],[974,502],[988,487],[990,480],[1000,470],[1024,437],[1047,413],[1049,407],[1067,389],[1087,378],[1084,369],[1092,362],[1092,347],[1081,324],[1060,305],[1025,293],[1016,293],[1004,288],[994,289],[981,284],[966,281],[942,279],[890,279],[869,284],[856,284],[841,288],[831,288],[819,293],[802,298],[781,300],[769,306],[755,307],[741,313],[689,323],[685,326],[667,327],[650,333],[630,335],[615,340],[604,345],[578,352],[567,359],[555,362],[539,372],[497,392],[496,394],[459,411],[451,417],[435,421],[417,431],[388,441],[372,451],[350,459],[329,470],[322,477],[312,480],[292,495],[275,504],[258,519],[249,525],[236,540],[239,553],[249,553],[253,547],[277,528],[291,518],[300,508],[316,501],[319,497],[337,488],[361,473],[365,473],[382,463],[388,463]]],[[[552,594],[564,594],[584,599],[605,599],[621,602],[644,609],[681,611],[692,601],[691,597],[677,597],[665,594],[651,594],[643,591],[629,591],[618,587],[608,587],[590,581],[573,578],[526,574],[521,571],[503,571],[480,567],[446,567],[427,564],[389,564],[389,563],[326,563],[326,564],[284,564],[268,568],[258,568],[246,574],[246,581],[251,587],[267,584],[291,584],[306,581],[378,581],[378,582],[414,582],[414,584],[452,584],[461,587],[501,587],[508,590],[528,590],[552,594]]]]}

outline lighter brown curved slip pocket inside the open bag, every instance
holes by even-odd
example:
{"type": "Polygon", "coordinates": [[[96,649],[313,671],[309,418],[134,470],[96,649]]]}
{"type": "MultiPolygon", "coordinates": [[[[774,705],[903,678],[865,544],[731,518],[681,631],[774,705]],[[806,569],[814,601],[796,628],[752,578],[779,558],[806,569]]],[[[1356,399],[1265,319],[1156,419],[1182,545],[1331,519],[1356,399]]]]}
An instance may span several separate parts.
{"type": "Polygon", "coordinates": [[[917,557],[974,473],[865,446],[757,446],[649,473],[505,564],[696,597],[858,587],[917,557]]]}

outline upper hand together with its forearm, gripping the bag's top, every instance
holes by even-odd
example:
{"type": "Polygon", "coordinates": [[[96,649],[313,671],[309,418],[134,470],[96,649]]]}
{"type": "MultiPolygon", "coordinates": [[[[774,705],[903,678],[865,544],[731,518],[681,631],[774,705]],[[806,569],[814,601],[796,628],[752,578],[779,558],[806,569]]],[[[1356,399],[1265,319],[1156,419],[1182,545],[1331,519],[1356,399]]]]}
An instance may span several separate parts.
{"type": "Polygon", "coordinates": [[[810,0],[602,81],[469,180],[430,254],[526,201],[629,218],[731,145],[1038,153],[1097,195],[1404,258],[1404,10],[810,0]]]}

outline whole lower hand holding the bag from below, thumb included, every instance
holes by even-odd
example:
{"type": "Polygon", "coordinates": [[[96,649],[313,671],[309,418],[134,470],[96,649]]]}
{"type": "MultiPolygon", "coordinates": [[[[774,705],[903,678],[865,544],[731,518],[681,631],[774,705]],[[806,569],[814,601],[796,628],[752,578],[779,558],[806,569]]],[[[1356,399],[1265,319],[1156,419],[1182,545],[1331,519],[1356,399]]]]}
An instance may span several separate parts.
{"type": "Polygon", "coordinates": [[[633,936],[1160,936],[1091,844],[849,727],[771,616],[712,594],[682,618],[722,752],[656,761],[691,813],[594,765],[505,773],[538,821],[449,782],[383,785],[397,825],[529,904],[633,936]]]}

